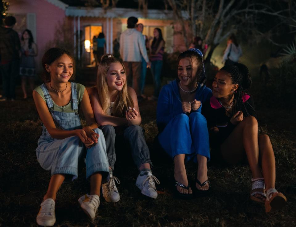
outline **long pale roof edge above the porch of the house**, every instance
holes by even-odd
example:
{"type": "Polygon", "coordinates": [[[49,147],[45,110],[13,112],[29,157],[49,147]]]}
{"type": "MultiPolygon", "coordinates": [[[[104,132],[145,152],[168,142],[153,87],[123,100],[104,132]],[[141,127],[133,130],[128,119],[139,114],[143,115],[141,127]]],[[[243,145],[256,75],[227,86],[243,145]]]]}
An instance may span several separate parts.
{"type": "MultiPolygon", "coordinates": [[[[182,12],[183,17],[188,18],[185,11],[182,12]]],[[[146,19],[164,19],[174,20],[174,14],[172,10],[147,10],[147,14],[144,15],[142,10],[128,9],[128,8],[111,8],[104,10],[103,8],[89,8],[89,7],[76,7],[69,6],[66,8],[66,16],[72,17],[101,17],[101,18],[128,18],[131,16],[137,18],[146,19]]]]}

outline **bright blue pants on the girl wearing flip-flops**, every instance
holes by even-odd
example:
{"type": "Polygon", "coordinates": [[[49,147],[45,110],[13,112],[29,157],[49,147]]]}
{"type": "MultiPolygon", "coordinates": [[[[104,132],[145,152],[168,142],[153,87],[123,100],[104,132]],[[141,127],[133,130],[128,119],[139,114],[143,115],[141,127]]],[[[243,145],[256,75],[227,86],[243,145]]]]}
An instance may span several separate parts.
{"type": "Polygon", "coordinates": [[[186,154],[185,162],[192,158],[197,162],[199,154],[210,160],[207,120],[200,112],[175,116],[159,134],[158,141],[172,159],[186,154]]]}

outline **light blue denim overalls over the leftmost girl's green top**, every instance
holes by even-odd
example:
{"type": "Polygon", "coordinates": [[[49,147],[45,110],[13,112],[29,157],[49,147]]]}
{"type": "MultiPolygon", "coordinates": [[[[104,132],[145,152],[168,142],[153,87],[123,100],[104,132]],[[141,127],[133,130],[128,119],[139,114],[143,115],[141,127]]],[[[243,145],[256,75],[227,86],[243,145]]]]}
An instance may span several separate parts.
{"type": "MultiPolygon", "coordinates": [[[[82,129],[78,115],[78,99],[76,83],[71,82],[72,99],[71,107],[73,112],[65,113],[53,110],[53,101],[43,83],[41,86],[46,100],[47,107],[55,122],[56,128],[63,130],[82,129]]],[[[51,170],[54,174],[72,175],[72,180],[78,176],[78,160],[86,152],[86,178],[95,172],[101,172],[102,183],[109,180],[109,164],[106,154],[105,138],[101,129],[93,129],[99,134],[98,142],[91,148],[86,148],[78,136],[71,136],[65,139],[53,139],[42,123],[42,135],[38,140],[36,149],[37,160],[42,168],[51,170]]]]}

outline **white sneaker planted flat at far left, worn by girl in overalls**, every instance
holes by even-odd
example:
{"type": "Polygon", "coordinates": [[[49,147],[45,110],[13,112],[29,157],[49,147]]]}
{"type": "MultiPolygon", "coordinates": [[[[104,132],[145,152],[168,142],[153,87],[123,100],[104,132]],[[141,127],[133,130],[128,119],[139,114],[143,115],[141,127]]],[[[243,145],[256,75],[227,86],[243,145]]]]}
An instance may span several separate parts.
{"type": "Polygon", "coordinates": [[[36,221],[38,225],[53,226],[55,224],[55,201],[46,199],[40,204],[40,210],[36,221]]]}

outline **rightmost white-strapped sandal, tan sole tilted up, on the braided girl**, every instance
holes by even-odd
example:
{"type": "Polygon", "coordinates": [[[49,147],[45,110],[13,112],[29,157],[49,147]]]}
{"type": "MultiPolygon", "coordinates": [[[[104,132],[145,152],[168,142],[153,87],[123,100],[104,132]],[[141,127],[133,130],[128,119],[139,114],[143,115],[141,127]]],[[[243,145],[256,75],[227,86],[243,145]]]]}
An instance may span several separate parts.
{"type": "Polygon", "coordinates": [[[286,196],[278,192],[275,188],[269,188],[266,192],[265,212],[274,212],[282,209],[287,202],[286,196]],[[272,195],[271,195],[272,194],[272,195]]]}

